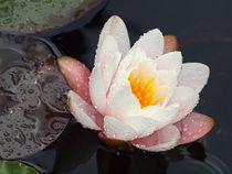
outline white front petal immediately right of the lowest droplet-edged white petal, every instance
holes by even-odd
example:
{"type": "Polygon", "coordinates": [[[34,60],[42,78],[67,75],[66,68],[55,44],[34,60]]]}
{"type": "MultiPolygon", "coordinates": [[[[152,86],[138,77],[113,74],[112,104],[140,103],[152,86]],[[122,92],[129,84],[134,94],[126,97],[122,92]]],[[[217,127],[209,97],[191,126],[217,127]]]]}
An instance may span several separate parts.
{"type": "Polygon", "coordinates": [[[156,130],[156,121],[141,116],[129,117],[124,122],[136,130],[137,138],[147,137],[156,130]]]}

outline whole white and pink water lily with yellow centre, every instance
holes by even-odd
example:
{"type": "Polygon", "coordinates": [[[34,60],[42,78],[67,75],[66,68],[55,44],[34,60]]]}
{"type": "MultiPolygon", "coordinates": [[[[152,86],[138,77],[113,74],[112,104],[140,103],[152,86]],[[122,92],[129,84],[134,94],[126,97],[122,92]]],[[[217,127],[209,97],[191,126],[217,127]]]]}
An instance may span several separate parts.
{"type": "Polygon", "coordinates": [[[112,17],[99,35],[92,73],[74,58],[59,58],[72,88],[68,105],[76,120],[108,139],[154,152],[208,133],[213,120],[191,111],[209,67],[182,63],[181,53],[167,39],[171,37],[155,29],[130,48],[125,23],[112,17]]]}

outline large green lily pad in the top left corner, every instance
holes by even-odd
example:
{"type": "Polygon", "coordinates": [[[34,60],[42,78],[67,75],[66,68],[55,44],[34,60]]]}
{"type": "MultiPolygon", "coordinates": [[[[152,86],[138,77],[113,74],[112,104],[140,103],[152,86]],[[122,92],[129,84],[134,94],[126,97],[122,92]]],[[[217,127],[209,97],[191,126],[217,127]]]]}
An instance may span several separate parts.
{"type": "Polygon", "coordinates": [[[34,33],[61,26],[102,0],[0,0],[0,31],[34,33]]]}

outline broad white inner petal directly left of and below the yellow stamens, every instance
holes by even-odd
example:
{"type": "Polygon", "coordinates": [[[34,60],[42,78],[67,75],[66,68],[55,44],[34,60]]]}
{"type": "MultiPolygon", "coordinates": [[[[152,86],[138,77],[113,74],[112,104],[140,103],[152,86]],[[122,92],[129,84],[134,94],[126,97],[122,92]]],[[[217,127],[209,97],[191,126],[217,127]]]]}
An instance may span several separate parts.
{"type": "Polygon", "coordinates": [[[133,94],[128,79],[118,79],[108,94],[106,115],[124,119],[137,116],[139,111],[140,104],[133,94]]]}

